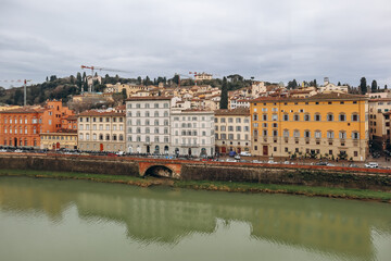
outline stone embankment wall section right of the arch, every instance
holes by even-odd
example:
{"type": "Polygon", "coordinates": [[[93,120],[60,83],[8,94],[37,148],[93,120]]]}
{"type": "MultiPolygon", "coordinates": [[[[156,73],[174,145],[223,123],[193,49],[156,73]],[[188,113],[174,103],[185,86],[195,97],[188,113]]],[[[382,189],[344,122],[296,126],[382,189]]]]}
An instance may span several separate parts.
{"type": "Polygon", "coordinates": [[[360,188],[391,191],[390,171],[318,166],[186,164],[185,181],[286,184],[323,187],[360,188]],[[368,170],[367,170],[368,171],[368,170]]]}

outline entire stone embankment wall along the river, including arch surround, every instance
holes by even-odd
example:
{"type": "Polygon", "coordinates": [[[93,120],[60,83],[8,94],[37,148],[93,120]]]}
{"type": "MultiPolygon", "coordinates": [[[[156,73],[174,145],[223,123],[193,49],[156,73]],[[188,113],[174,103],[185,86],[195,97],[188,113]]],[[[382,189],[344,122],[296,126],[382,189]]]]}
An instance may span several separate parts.
{"type": "Polygon", "coordinates": [[[0,169],[140,176],[143,174],[140,173],[143,164],[169,167],[172,171],[178,172],[177,178],[185,181],[245,182],[391,191],[391,172],[389,170],[229,162],[204,163],[89,156],[0,154],[0,169]],[[177,167],[173,169],[173,165],[177,165],[177,167]]]}

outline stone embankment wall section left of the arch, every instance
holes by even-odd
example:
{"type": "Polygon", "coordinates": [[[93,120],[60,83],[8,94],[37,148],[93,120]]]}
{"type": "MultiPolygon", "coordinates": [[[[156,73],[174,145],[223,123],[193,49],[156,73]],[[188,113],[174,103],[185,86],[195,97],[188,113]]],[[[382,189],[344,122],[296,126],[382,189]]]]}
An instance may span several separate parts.
{"type": "Polygon", "coordinates": [[[137,162],[88,157],[0,156],[0,169],[139,175],[137,162]]]}

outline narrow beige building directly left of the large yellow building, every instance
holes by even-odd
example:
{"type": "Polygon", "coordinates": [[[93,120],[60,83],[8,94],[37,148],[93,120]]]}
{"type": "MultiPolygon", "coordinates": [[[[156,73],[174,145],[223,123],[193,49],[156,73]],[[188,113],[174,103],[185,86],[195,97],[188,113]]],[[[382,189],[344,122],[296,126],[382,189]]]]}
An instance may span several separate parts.
{"type": "Polygon", "coordinates": [[[250,124],[249,109],[215,111],[216,152],[226,154],[229,151],[250,151],[250,124]]]}

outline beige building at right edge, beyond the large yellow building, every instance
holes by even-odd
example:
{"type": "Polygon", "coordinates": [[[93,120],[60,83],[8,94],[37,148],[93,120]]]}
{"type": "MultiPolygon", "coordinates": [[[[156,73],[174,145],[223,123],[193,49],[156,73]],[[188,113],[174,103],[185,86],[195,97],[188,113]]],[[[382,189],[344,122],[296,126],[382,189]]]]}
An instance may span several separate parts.
{"type": "Polygon", "coordinates": [[[369,139],[375,149],[386,149],[389,141],[386,115],[391,111],[391,98],[370,99],[369,102],[369,139]]]}

